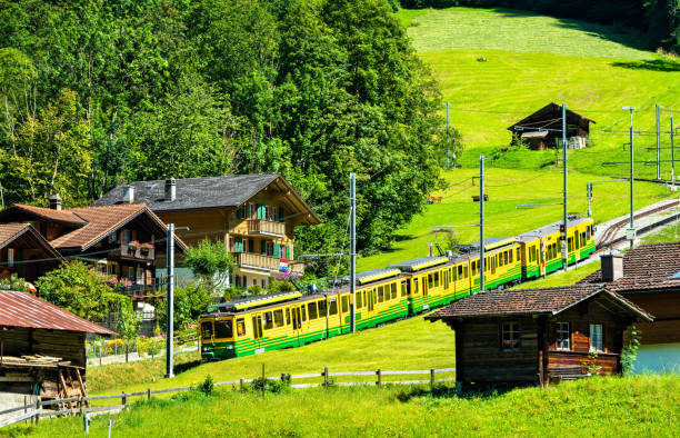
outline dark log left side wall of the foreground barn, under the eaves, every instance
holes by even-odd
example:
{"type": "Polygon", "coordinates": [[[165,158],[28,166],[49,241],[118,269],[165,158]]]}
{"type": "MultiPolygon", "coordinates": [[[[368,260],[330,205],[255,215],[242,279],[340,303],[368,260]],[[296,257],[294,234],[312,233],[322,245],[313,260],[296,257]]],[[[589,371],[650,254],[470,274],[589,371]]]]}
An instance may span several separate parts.
{"type": "Polygon", "coordinates": [[[538,385],[538,322],[533,318],[466,319],[456,325],[457,381],[538,385]],[[502,322],[520,323],[520,348],[503,351],[502,322]],[[462,371],[462,372],[461,372],[462,371]]]}

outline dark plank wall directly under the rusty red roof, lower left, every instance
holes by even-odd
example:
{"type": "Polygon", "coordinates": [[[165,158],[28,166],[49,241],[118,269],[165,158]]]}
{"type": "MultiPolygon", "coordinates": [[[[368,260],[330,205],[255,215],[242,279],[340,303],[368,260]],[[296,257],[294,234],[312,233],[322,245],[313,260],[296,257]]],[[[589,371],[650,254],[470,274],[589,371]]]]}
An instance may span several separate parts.
{"type": "Polygon", "coordinates": [[[0,328],[3,356],[21,357],[39,354],[70,360],[72,365],[84,368],[87,364],[84,341],[86,334],[80,331],[0,328]]]}

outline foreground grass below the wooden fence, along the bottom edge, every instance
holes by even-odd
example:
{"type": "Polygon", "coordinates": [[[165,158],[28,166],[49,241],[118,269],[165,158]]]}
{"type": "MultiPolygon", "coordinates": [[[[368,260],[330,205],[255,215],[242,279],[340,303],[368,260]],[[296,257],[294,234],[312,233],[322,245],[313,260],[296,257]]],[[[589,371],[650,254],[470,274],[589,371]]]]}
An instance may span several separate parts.
{"type": "MultiPolygon", "coordinates": [[[[680,377],[591,378],[493,397],[451,389],[354,387],[268,394],[220,391],[186,400],[141,402],[93,419],[90,436],[677,436],[680,377]]],[[[0,431],[78,436],[82,419],[42,421],[0,431]]]]}

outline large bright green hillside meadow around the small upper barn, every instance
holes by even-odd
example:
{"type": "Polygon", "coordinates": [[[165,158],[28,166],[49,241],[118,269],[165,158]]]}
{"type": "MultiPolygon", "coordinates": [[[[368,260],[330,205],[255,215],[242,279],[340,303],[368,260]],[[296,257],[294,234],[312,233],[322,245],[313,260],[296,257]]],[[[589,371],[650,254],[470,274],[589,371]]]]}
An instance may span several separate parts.
{"type": "MultiPolygon", "coordinates": [[[[629,115],[621,107],[637,107],[636,127],[653,130],[653,106],[663,104],[666,131],[668,111],[680,109],[680,63],[641,50],[632,30],[502,9],[402,10],[398,16],[439,80],[443,100],[451,104],[451,125],[464,142],[459,157],[462,168],[442,172],[449,188],[434,193],[443,196],[442,203],[426,206],[399,231],[392,248],[360,259],[360,270],[427,255],[427,243],[433,240],[431,227],[478,223],[478,205],[470,197],[479,192],[471,178],[478,175],[480,155],[494,157],[487,170],[491,199],[487,236],[512,236],[560,220],[561,206],[516,210],[518,203],[560,202],[557,153],[499,151],[510,142],[507,128],[547,103],[566,102],[597,121],[591,126],[593,146],[569,152],[569,211],[580,213],[586,212],[586,181],[628,175],[627,163],[602,166],[628,161],[623,143],[629,115]]],[[[661,147],[668,148],[669,142],[669,136],[662,136],[661,147]]],[[[656,145],[656,137],[639,136],[636,145],[636,160],[656,157],[647,150],[656,145]]],[[[662,159],[670,159],[669,149],[662,149],[662,159]]],[[[656,166],[637,165],[636,169],[637,177],[656,176],[656,166]]],[[[670,178],[669,162],[661,170],[662,177],[670,178]]],[[[596,186],[597,222],[626,212],[626,190],[618,183],[596,186]]],[[[637,208],[667,196],[661,186],[637,183],[636,191],[637,208]]],[[[469,242],[477,239],[478,230],[460,228],[458,233],[469,242]]]]}

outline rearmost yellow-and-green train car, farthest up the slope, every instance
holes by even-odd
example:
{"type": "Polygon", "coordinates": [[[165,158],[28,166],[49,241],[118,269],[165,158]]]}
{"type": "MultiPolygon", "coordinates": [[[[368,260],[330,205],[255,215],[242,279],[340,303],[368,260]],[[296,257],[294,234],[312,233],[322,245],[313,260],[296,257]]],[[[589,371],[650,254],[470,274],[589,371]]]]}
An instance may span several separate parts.
{"type": "MultiPolygon", "coordinates": [[[[561,225],[554,222],[518,236],[523,279],[530,280],[562,268],[561,225]]],[[[571,265],[594,251],[594,225],[592,218],[572,218],[567,221],[567,260],[571,265]]]]}

